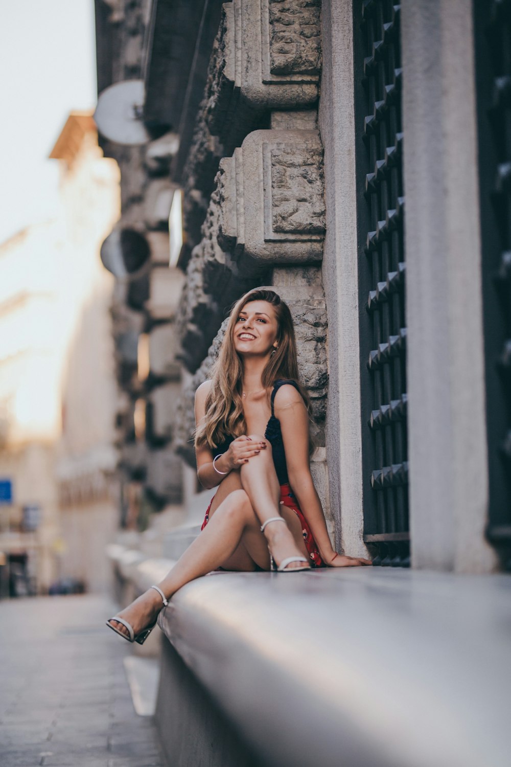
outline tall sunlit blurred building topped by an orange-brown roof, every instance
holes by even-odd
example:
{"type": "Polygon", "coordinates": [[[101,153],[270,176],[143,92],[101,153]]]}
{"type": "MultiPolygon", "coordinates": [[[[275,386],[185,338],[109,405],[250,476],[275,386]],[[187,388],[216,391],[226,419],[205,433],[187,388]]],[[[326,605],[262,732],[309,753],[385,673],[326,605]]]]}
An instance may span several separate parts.
{"type": "Polygon", "coordinates": [[[61,165],[62,220],[72,283],[72,334],[61,370],[61,434],[56,446],[61,577],[98,591],[109,578],[104,547],[118,521],[110,308],[113,278],[100,245],[119,217],[119,169],[103,157],[90,114],[71,113],[51,151],[61,165]]]}

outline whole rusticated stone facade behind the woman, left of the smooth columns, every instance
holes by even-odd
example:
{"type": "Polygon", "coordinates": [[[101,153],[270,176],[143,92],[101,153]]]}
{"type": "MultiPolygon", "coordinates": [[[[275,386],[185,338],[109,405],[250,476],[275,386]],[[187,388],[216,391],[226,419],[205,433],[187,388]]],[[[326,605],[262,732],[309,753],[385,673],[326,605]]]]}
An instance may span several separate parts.
{"type": "MultiPolygon", "coordinates": [[[[136,5],[149,8],[146,0],[136,5]]],[[[314,472],[327,505],[320,2],[198,0],[192,8],[177,0],[154,4],[151,13],[145,38],[151,48],[138,55],[148,67],[146,128],[157,135],[141,147],[105,143],[121,167],[120,231],[143,235],[149,252],[148,265],[117,290],[119,378],[126,392],[118,419],[121,466],[156,497],[177,497],[164,474],[172,469],[172,450],[195,467],[195,390],[218,354],[225,318],[246,291],[267,285],[287,301],[295,321],[319,448],[314,472]],[[172,67],[171,59],[189,66],[172,67]],[[166,219],[177,187],[183,244],[177,268],[169,270],[166,219]],[[149,369],[141,379],[142,335],[149,369]],[[179,362],[188,371],[182,384],[179,362]]],[[[133,51],[123,55],[133,58],[133,51]]]]}

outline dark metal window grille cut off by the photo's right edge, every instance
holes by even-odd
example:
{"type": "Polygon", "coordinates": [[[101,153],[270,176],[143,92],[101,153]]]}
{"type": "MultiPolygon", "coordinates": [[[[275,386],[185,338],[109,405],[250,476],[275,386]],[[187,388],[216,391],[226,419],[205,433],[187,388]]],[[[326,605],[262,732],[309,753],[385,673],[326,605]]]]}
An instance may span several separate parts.
{"type": "Polygon", "coordinates": [[[487,537],[511,570],[511,2],[473,5],[488,436],[487,537]]]}

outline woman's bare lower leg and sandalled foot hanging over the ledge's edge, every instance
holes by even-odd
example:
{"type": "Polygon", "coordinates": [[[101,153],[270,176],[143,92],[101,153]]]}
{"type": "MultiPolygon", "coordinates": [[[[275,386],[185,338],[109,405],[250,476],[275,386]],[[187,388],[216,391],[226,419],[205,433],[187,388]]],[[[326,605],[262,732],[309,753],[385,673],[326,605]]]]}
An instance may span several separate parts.
{"type": "MultiPolygon", "coordinates": [[[[260,536],[259,522],[247,493],[241,489],[234,490],[215,510],[215,515],[201,535],[195,538],[169,574],[157,585],[167,598],[171,597],[189,581],[215,570],[228,560],[237,550],[244,533],[256,532],[260,536]]],[[[254,562],[247,555],[247,570],[253,569],[254,562]]],[[[155,620],[161,607],[162,598],[155,589],[149,589],[129,604],[120,613],[120,617],[131,624],[136,635],[155,620]]],[[[129,632],[123,624],[117,621],[111,623],[128,636],[129,632]]]]}

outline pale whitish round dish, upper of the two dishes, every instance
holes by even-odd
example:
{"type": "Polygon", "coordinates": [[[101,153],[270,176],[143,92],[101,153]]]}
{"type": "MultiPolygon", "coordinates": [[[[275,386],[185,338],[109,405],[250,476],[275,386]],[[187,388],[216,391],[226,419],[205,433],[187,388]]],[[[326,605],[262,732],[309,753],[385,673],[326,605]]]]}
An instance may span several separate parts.
{"type": "Polygon", "coordinates": [[[114,143],[147,143],[151,136],[143,123],[144,100],[143,80],[125,80],[105,88],[94,112],[97,130],[114,143]]]}

